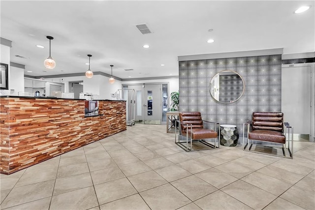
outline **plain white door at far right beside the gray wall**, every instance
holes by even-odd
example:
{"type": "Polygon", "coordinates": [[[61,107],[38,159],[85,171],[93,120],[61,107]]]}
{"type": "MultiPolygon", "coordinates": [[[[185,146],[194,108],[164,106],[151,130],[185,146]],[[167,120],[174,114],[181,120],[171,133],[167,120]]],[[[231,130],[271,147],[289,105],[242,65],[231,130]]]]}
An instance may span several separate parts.
{"type": "Polygon", "coordinates": [[[282,68],[281,109],[294,134],[311,134],[311,67],[282,68]]]}

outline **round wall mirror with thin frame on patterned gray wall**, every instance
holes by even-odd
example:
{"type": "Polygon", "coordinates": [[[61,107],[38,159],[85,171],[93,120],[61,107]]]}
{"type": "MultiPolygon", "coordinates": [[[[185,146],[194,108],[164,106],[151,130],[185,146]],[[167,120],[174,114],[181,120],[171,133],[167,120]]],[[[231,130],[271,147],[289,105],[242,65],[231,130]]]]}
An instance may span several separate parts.
{"type": "Polygon", "coordinates": [[[244,79],[232,70],[218,72],[211,79],[209,90],[217,102],[230,104],[236,102],[244,93],[244,79]]]}

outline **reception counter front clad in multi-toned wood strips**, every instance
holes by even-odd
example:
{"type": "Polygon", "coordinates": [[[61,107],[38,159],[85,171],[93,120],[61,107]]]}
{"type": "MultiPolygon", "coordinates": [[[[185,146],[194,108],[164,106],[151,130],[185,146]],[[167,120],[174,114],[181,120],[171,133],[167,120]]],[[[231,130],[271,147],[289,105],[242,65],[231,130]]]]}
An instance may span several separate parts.
{"type": "Polygon", "coordinates": [[[126,130],[126,101],[0,96],[0,173],[12,174],[126,130]]]}

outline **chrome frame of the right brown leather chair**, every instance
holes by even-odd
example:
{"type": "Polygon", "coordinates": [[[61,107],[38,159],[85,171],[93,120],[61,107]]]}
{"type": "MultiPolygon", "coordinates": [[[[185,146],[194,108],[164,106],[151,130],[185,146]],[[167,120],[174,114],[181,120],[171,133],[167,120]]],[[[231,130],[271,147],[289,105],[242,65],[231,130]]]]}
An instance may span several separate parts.
{"type": "Polygon", "coordinates": [[[272,141],[265,141],[265,140],[254,140],[254,141],[261,141],[261,142],[270,142],[270,143],[275,143],[275,144],[281,144],[282,147],[279,147],[277,145],[268,145],[268,144],[257,144],[254,143],[253,140],[249,139],[249,133],[250,133],[250,125],[252,124],[251,121],[248,121],[247,123],[243,124],[243,150],[248,151],[248,152],[255,152],[255,153],[260,153],[260,154],[267,154],[267,155],[273,155],[273,156],[278,156],[278,157],[284,157],[284,158],[291,158],[293,159],[293,127],[290,126],[289,123],[284,122],[284,136],[285,136],[285,143],[277,143],[277,142],[272,142],[272,141]],[[247,143],[245,144],[245,126],[247,127],[247,143]],[[291,132],[290,132],[291,131],[291,132]],[[291,138],[290,138],[290,133],[291,133],[291,138]],[[290,142],[291,142],[291,149],[290,149],[290,142]],[[287,147],[286,147],[287,143],[287,147]],[[251,145],[250,145],[251,144],[251,145]],[[259,152],[259,151],[252,151],[252,145],[260,145],[260,146],[267,146],[267,147],[275,147],[275,148],[282,148],[282,151],[284,153],[284,156],[282,155],[276,155],[276,154],[270,154],[266,152],[259,152]],[[248,150],[246,147],[249,146],[248,150]],[[290,157],[286,157],[286,151],[285,149],[287,148],[290,157]]]}

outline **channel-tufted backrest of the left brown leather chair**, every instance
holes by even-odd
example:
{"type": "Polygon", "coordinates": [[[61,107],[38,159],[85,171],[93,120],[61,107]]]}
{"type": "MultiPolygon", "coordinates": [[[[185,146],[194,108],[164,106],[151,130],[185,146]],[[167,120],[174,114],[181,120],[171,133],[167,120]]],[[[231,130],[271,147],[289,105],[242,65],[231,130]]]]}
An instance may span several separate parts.
{"type": "MultiPolygon", "coordinates": [[[[192,128],[203,128],[201,113],[199,111],[179,112],[179,120],[185,124],[192,124],[192,128]]],[[[182,132],[186,132],[186,126],[181,125],[182,132]]]]}

